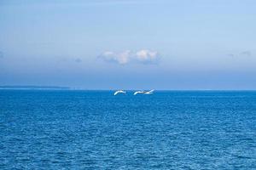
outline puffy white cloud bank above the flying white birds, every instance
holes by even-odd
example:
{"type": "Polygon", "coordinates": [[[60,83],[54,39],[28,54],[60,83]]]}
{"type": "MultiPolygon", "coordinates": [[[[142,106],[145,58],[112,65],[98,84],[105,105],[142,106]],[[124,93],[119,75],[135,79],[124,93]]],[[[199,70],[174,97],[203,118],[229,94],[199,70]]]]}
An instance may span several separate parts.
{"type": "Polygon", "coordinates": [[[119,65],[126,65],[131,62],[139,64],[157,64],[160,60],[160,54],[158,52],[148,49],[141,49],[135,53],[131,52],[131,50],[125,50],[120,53],[106,51],[98,57],[104,61],[117,63],[119,65]]]}

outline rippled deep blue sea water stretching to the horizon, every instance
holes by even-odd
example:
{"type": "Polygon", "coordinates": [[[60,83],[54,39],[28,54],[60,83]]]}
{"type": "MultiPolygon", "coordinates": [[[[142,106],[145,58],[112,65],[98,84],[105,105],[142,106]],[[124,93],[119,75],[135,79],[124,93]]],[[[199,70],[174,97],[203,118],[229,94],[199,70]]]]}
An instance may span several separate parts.
{"type": "Polygon", "coordinates": [[[0,90],[0,169],[256,169],[256,92],[0,90]]]}

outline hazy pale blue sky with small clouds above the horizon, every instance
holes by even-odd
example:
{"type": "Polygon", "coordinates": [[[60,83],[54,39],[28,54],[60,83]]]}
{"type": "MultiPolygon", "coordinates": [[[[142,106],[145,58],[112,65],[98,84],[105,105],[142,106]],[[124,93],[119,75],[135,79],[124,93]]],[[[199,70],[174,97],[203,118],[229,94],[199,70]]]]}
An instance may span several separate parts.
{"type": "Polygon", "coordinates": [[[1,0],[0,86],[256,89],[254,0],[1,0]]]}

